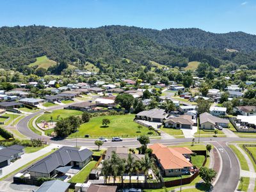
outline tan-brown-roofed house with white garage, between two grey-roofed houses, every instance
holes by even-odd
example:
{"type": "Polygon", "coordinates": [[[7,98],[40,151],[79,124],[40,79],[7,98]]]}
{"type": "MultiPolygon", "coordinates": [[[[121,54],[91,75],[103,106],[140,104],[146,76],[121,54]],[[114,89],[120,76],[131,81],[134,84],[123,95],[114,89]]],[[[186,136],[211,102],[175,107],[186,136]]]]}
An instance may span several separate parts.
{"type": "Polygon", "coordinates": [[[164,121],[165,127],[173,127],[176,129],[192,129],[193,124],[192,117],[189,115],[180,115],[174,118],[168,118],[164,121]]]}

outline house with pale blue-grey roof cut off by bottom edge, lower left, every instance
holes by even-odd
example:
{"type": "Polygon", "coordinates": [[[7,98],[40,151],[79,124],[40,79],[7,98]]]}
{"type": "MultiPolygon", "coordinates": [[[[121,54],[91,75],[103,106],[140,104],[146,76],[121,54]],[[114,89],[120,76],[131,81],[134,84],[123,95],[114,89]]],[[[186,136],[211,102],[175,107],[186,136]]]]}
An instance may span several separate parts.
{"type": "Polygon", "coordinates": [[[45,181],[40,188],[36,189],[35,192],[68,192],[70,183],[62,180],[48,180],[45,181]]]}

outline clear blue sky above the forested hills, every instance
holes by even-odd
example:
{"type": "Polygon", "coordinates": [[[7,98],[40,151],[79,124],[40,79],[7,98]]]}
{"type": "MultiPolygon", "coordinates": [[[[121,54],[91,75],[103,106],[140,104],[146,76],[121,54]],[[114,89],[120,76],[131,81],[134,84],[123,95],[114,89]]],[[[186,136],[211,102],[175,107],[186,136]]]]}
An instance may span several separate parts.
{"type": "Polygon", "coordinates": [[[256,35],[256,0],[0,0],[0,26],[200,28],[256,35]]]}

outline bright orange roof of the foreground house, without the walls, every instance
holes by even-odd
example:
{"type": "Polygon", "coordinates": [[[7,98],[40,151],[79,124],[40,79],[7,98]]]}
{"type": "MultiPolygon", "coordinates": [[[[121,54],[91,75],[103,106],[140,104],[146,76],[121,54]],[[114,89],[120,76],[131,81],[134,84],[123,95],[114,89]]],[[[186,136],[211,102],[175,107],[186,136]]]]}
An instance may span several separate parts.
{"type": "Polygon", "coordinates": [[[189,154],[193,153],[189,148],[184,148],[182,149],[182,152],[180,152],[179,149],[182,147],[176,149],[168,148],[160,143],[150,145],[149,148],[153,150],[153,154],[155,154],[165,170],[193,166],[193,164],[191,164],[182,154],[182,152],[189,152],[189,154]]]}

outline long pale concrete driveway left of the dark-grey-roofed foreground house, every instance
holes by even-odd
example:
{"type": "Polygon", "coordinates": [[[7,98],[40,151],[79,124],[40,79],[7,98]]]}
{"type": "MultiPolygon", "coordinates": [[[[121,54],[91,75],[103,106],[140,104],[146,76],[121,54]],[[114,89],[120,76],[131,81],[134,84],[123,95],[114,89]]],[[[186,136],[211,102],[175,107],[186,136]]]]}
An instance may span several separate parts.
{"type": "MultiPolygon", "coordinates": [[[[20,159],[17,159],[13,163],[11,163],[8,166],[5,166],[2,168],[3,174],[0,176],[0,179],[4,177],[5,175],[8,175],[9,173],[14,172],[17,170],[17,168],[20,168],[24,166],[25,164],[29,163],[30,161],[35,160],[36,158],[43,156],[44,154],[47,154],[48,152],[51,152],[53,148],[58,148],[60,145],[58,144],[51,144],[45,148],[42,148],[41,150],[38,150],[37,152],[33,152],[31,154],[23,154],[20,159]]],[[[0,188],[1,189],[1,188],[0,188]]]]}

